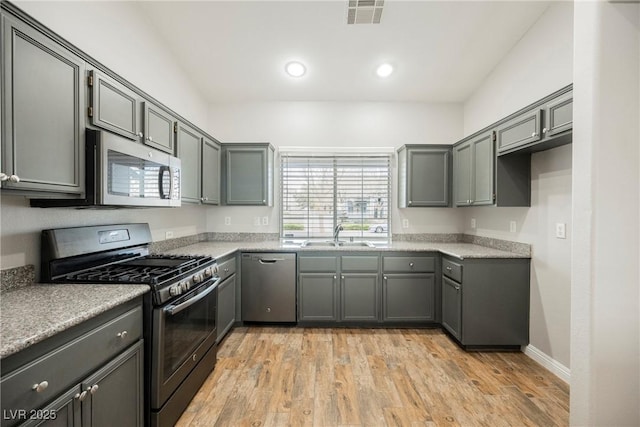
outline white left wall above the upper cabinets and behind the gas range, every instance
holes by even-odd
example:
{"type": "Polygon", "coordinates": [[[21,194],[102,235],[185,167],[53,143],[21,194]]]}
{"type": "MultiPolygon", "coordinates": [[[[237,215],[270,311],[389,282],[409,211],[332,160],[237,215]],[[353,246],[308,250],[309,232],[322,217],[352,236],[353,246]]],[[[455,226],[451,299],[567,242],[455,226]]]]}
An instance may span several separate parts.
{"type": "MultiPolygon", "coordinates": [[[[17,6],[140,89],[206,130],[207,108],[194,85],[156,38],[134,2],[31,2],[17,6]],[[168,83],[169,82],[169,83],[168,83]]],[[[17,196],[0,201],[0,266],[38,264],[46,228],[149,222],[154,240],[206,231],[206,208],[87,211],[29,208],[17,196]]]]}

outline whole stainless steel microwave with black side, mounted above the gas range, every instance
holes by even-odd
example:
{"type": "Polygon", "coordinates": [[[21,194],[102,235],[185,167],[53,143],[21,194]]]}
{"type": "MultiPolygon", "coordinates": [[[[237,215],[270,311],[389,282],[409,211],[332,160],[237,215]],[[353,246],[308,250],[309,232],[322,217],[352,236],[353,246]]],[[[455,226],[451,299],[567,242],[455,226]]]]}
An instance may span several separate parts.
{"type": "Polygon", "coordinates": [[[31,206],[180,206],[180,159],[104,131],[87,129],[85,137],[85,198],[31,199],[31,206]]]}

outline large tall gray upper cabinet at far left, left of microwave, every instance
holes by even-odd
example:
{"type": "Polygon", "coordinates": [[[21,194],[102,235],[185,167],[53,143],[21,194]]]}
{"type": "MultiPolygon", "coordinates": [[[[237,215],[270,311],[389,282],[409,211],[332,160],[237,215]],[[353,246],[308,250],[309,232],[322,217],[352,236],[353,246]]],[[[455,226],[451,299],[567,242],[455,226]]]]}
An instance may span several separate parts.
{"type": "Polygon", "coordinates": [[[2,188],[84,193],[85,62],[2,15],[2,188]]]}

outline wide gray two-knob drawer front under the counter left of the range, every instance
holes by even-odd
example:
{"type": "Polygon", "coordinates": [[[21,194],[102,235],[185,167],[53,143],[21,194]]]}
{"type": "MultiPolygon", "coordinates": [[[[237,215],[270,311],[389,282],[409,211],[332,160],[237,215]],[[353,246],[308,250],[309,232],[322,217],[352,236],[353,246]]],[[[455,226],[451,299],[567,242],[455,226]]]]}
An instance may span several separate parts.
{"type": "Polygon", "coordinates": [[[3,408],[43,407],[141,337],[142,307],[136,307],[2,378],[3,408]],[[48,383],[44,390],[33,390],[43,381],[48,383]]]}

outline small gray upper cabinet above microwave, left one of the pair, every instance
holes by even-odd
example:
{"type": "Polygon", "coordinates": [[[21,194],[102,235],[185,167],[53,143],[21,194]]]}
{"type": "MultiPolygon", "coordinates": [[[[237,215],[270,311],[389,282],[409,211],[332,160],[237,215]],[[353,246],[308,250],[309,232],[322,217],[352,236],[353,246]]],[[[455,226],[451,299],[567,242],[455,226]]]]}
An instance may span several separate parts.
{"type": "Polygon", "coordinates": [[[132,140],[142,137],[139,130],[138,95],[107,75],[91,70],[91,124],[132,140]]]}

